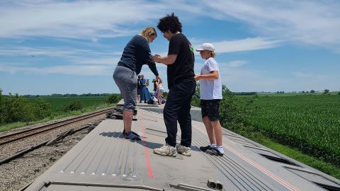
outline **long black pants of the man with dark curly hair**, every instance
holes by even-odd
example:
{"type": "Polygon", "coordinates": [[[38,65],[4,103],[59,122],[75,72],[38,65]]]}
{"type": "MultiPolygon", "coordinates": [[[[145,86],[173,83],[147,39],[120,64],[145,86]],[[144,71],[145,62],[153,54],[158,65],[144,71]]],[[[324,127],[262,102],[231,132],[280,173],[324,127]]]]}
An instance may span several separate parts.
{"type": "Polygon", "coordinates": [[[181,145],[191,146],[191,98],[196,89],[196,81],[188,79],[176,83],[169,91],[163,110],[166,126],[165,142],[170,146],[176,146],[177,120],[181,127],[181,145]]]}

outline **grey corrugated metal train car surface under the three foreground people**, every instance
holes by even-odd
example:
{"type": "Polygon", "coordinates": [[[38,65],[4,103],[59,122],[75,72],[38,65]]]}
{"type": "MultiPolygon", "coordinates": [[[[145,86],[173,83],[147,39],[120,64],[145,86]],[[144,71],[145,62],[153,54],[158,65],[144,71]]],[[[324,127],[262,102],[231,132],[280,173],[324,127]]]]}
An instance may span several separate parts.
{"type": "Polygon", "coordinates": [[[289,164],[261,156],[270,152],[266,148],[227,130],[223,157],[203,153],[198,148],[208,137],[202,122],[193,121],[191,157],[158,156],[152,149],[164,144],[162,114],[138,110],[137,119],[132,129],[142,141],[123,139],[122,120],[105,120],[27,190],[207,190],[208,179],[220,181],[224,190],[323,190],[288,170],[289,164]]]}

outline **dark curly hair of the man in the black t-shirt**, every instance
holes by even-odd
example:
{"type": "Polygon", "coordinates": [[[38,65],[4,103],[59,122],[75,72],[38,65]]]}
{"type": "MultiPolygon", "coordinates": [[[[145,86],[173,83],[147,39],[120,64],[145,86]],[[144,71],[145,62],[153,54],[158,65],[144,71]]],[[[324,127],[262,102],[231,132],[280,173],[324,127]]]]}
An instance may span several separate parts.
{"type": "Polygon", "coordinates": [[[157,28],[162,31],[162,33],[170,30],[171,33],[176,33],[179,31],[182,33],[182,23],[179,22],[179,18],[175,16],[174,13],[171,15],[166,14],[164,18],[159,19],[157,28]]]}

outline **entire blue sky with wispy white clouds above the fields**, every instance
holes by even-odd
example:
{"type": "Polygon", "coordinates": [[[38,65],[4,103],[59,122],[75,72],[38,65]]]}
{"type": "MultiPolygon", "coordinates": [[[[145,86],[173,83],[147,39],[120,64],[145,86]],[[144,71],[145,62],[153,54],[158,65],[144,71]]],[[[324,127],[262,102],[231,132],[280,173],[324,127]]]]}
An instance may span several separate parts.
{"type": "MultiPolygon", "coordinates": [[[[0,89],[119,93],[112,75],[125,45],[174,12],[195,49],[215,46],[231,91],[340,91],[339,10],[336,0],[1,0],[0,89]]],[[[166,55],[157,33],[152,54],[166,55]]],[[[195,57],[199,74],[205,60],[195,57]]],[[[166,66],[157,69],[166,85],[166,66]]],[[[141,74],[154,79],[147,65],[141,74]]]]}

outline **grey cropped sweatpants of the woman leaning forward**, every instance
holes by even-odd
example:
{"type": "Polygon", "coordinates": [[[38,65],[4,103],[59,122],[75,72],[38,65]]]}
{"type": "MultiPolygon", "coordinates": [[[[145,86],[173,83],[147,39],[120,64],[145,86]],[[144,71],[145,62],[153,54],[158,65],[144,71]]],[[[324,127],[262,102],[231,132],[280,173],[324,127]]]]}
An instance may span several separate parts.
{"type": "Polygon", "coordinates": [[[124,99],[124,110],[134,111],[137,102],[137,75],[124,66],[116,66],[113,79],[124,99]]]}

